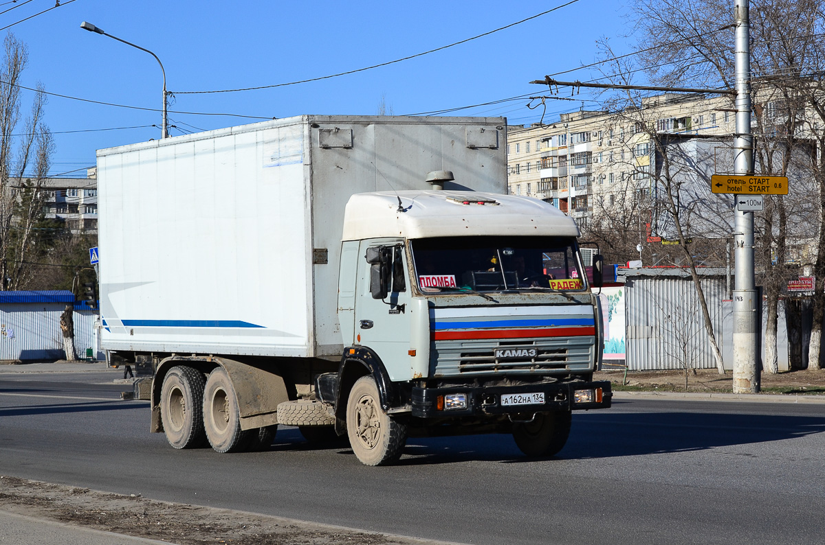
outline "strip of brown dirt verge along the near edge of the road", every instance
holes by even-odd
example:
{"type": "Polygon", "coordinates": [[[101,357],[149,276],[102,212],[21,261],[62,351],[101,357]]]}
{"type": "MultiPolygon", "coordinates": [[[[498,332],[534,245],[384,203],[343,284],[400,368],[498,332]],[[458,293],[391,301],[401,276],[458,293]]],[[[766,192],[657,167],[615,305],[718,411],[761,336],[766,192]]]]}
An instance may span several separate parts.
{"type": "Polygon", "coordinates": [[[0,510],[179,545],[438,543],[243,511],[109,494],[88,488],[66,487],[8,476],[0,476],[0,510]]]}

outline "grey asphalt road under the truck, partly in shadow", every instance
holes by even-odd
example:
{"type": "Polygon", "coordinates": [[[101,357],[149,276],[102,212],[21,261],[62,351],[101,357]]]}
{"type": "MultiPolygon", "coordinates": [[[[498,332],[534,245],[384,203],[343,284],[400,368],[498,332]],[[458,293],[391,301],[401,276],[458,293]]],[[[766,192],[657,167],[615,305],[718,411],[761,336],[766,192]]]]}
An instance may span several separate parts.
{"type": "Polygon", "coordinates": [[[411,439],[396,466],[314,450],[173,450],[118,371],[0,375],[0,473],[419,538],[822,543],[825,405],[634,399],[575,413],[557,458],[510,436],[411,439]]]}

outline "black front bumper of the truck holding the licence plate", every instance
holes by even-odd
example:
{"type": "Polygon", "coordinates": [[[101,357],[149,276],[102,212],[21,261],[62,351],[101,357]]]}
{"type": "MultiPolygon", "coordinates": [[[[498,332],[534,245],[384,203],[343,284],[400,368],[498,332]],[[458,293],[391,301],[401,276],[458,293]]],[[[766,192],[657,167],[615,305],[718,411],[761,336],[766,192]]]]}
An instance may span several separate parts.
{"type": "Polygon", "coordinates": [[[613,394],[609,381],[597,382],[547,382],[520,384],[518,386],[450,386],[445,388],[413,388],[413,417],[465,417],[472,415],[518,414],[525,412],[573,411],[579,409],[609,408],[613,394]],[[595,393],[601,389],[601,395],[595,393]],[[577,390],[592,390],[593,401],[575,403],[577,390]],[[502,395],[544,394],[544,403],[502,405],[502,395]],[[439,408],[439,396],[464,394],[466,408],[439,408]],[[601,398],[601,401],[596,401],[601,398]]]}

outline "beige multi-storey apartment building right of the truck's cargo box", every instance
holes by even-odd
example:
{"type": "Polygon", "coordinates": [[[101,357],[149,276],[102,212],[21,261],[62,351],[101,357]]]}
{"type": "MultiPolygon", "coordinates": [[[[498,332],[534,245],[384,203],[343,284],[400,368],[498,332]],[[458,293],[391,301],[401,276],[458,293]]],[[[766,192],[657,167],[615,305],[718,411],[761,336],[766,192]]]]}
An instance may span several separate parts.
{"type": "Polygon", "coordinates": [[[644,99],[641,108],[580,110],[555,123],[509,127],[508,188],[587,224],[600,209],[626,203],[628,193],[650,194],[656,168],[651,132],[728,135],[734,118],[727,97],[663,94],[644,99]]]}

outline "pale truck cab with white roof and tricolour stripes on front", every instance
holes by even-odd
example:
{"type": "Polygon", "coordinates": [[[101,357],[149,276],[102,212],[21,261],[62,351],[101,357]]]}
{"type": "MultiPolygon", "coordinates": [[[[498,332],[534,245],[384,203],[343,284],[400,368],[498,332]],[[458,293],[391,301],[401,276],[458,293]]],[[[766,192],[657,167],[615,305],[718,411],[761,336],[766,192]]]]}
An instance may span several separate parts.
{"type": "MultiPolygon", "coordinates": [[[[380,447],[347,417],[347,393],[363,376],[377,396],[361,405],[374,403],[365,413],[383,413],[384,428],[512,432],[532,455],[561,449],[571,410],[610,406],[610,383],[592,382],[600,314],[577,236],[572,219],[532,198],[350,198],[338,286],[347,348],[339,373],[320,377],[318,392],[362,461],[380,447]]],[[[370,434],[380,420],[366,426],[370,434]]]]}

